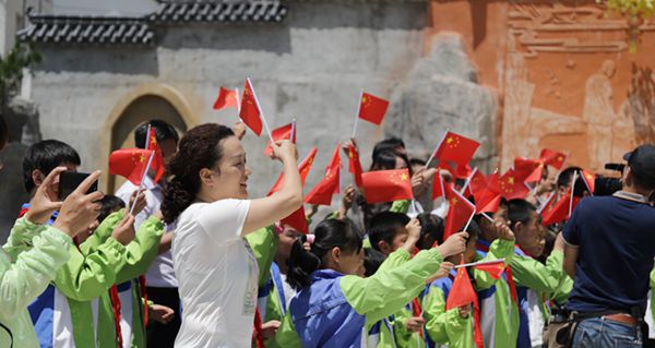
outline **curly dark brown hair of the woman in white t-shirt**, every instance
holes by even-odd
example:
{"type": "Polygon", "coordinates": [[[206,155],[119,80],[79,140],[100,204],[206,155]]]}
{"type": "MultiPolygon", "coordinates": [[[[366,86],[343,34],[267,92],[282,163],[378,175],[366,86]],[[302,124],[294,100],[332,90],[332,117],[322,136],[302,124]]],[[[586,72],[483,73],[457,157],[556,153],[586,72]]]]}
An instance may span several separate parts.
{"type": "Polygon", "coordinates": [[[218,142],[234,135],[225,125],[205,123],[182,136],[177,154],[167,164],[172,179],[164,190],[162,202],[165,223],[175,221],[193,203],[200,191],[200,170],[212,168],[221,160],[223,152],[218,142]]]}

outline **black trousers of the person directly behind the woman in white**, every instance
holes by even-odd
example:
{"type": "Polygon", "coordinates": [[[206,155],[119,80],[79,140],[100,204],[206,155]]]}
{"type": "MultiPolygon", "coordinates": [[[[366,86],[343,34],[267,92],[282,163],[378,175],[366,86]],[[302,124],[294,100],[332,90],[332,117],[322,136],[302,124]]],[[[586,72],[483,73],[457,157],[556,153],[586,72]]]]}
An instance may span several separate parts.
{"type": "Polygon", "coordinates": [[[171,308],[175,311],[175,319],[168,324],[157,323],[153,320],[147,323],[145,343],[148,348],[172,348],[175,337],[180,331],[180,295],[177,288],[153,288],[147,287],[147,299],[155,304],[162,304],[171,308]]]}

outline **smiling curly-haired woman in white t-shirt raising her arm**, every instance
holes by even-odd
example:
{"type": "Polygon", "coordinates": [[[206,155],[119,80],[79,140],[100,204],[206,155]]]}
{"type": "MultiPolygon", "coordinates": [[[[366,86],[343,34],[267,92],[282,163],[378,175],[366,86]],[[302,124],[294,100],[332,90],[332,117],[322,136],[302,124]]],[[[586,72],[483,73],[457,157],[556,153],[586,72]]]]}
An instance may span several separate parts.
{"type": "Polygon", "coordinates": [[[243,236],[302,204],[295,145],[278,142],[273,154],[285,182],[259,200],[247,200],[246,152],[227,127],[191,129],[170,159],[162,212],[167,223],[177,219],[172,257],[183,310],[176,347],[251,345],[259,269],[243,236]]]}

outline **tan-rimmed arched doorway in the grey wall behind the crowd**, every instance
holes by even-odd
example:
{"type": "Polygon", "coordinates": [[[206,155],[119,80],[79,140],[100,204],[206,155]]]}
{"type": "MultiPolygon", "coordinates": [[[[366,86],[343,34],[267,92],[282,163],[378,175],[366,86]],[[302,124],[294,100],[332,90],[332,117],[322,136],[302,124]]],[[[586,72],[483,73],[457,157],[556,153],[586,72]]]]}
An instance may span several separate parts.
{"type": "Polygon", "coordinates": [[[152,119],[172,124],[180,135],[198,123],[182,96],[168,85],[144,85],[129,93],[114,108],[103,132],[104,192],[112,193],[124,182],[123,178],[109,176],[109,154],[117,148],[134,147],[134,129],[152,119]]]}

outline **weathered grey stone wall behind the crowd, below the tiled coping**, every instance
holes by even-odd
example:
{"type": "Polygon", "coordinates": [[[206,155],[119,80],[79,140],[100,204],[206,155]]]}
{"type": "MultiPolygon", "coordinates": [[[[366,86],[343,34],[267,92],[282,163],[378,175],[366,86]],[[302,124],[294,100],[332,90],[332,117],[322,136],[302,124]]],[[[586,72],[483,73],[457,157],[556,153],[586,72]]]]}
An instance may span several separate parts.
{"type": "MultiPolygon", "coordinates": [[[[99,140],[111,132],[107,120],[135,89],[166,84],[191,119],[231,123],[236,111],[212,110],[214,98],[219,86],[242,88],[250,76],[271,127],[295,117],[300,156],[319,147],[308,188],[322,178],[336,142],[350,136],[361,89],[392,100],[383,128],[359,123],[365,168],[385,134],[404,136],[412,152],[427,157],[446,127],[485,139],[489,153],[480,159],[493,155],[495,98],[477,85],[458,36],[443,36],[424,52],[427,2],[285,3],[281,24],[162,26],[153,48],[41,46],[31,97],[43,137],[78,148],[81,170],[104,168],[109,148],[99,140]]],[[[281,170],[264,158],[264,144],[252,133],[245,140],[251,196],[265,194],[281,170]]]]}

